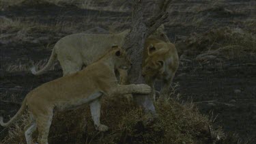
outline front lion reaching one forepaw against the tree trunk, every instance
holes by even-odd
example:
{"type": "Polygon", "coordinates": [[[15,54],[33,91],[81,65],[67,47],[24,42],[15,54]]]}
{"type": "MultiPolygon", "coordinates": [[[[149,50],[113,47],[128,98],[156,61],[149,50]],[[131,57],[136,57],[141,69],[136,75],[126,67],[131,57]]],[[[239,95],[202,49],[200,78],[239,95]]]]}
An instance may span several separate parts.
{"type": "MultiPolygon", "coordinates": [[[[109,48],[110,49],[110,48],[109,48]]],[[[145,84],[118,85],[115,70],[130,67],[130,60],[122,48],[112,46],[111,51],[83,70],[44,83],[30,91],[16,115],[7,123],[0,117],[1,126],[10,126],[28,109],[31,123],[25,127],[27,143],[33,143],[32,134],[38,128],[38,142],[48,143],[48,132],[54,111],[74,109],[89,103],[96,130],[106,131],[100,123],[100,98],[128,93],[150,93],[145,84]]]]}

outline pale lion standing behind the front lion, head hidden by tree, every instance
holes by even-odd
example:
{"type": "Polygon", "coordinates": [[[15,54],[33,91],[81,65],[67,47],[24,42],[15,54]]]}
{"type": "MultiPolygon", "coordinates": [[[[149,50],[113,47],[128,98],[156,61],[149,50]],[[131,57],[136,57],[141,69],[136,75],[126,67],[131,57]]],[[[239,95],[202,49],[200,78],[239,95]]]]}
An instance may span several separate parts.
{"type": "Polygon", "coordinates": [[[46,66],[38,72],[33,67],[31,72],[35,75],[43,74],[53,66],[56,60],[61,64],[63,76],[78,72],[83,66],[88,66],[102,57],[109,51],[112,44],[122,46],[129,32],[130,30],[117,34],[76,33],[68,35],[55,44],[46,66]]]}

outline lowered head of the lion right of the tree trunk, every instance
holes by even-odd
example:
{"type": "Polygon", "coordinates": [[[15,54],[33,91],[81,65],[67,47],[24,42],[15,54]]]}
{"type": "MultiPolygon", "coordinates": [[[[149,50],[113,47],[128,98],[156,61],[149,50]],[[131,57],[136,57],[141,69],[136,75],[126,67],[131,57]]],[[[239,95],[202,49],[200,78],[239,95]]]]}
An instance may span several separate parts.
{"type": "Polygon", "coordinates": [[[169,51],[164,44],[150,44],[147,47],[148,57],[144,61],[142,68],[143,76],[154,77],[165,72],[165,54],[169,51]]]}

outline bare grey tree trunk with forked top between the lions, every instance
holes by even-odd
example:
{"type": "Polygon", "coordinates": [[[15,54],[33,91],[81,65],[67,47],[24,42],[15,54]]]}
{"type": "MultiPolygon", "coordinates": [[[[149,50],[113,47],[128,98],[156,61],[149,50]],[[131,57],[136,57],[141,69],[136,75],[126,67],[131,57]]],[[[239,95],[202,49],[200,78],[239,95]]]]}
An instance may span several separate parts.
{"type": "MultiPolygon", "coordinates": [[[[156,31],[162,23],[167,22],[167,10],[171,4],[171,0],[158,0],[158,8],[156,8],[154,15],[148,19],[143,17],[145,15],[145,9],[147,8],[143,5],[143,0],[132,0],[132,2],[131,31],[126,36],[123,47],[126,49],[132,61],[132,68],[129,72],[129,81],[130,83],[138,84],[145,83],[143,76],[141,76],[141,63],[145,38],[156,31]]],[[[142,106],[145,111],[149,111],[152,114],[156,113],[154,104],[149,96],[134,96],[134,101],[142,106]]]]}

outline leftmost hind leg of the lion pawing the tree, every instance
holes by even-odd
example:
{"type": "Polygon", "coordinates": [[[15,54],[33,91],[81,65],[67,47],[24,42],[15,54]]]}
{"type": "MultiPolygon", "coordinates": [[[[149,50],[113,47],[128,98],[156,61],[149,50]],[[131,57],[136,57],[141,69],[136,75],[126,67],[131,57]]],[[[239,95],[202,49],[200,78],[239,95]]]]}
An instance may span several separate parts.
{"type": "Polygon", "coordinates": [[[32,134],[36,130],[35,119],[33,119],[32,115],[31,115],[31,122],[27,126],[25,126],[24,129],[25,129],[25,138],[26,138],[27,144],[32,144],[33,143],[32,134]]]}

